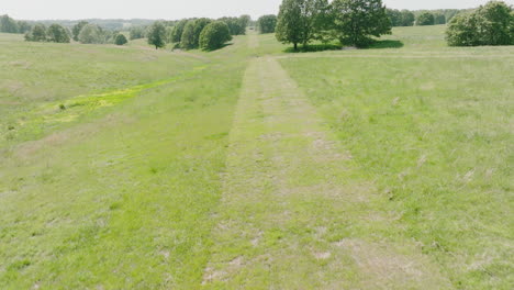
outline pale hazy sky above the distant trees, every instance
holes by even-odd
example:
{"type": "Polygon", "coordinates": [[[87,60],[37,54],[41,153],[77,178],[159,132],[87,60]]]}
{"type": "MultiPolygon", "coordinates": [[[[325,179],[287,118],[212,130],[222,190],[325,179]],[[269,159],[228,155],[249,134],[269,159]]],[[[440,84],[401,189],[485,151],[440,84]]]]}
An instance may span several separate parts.
{"type": "MultiPolygon", "coordinates": [[[[473,8],[488,0],[383,0],[390,8],[473,8]]],[[[0,14],[14,19],[167,19],[277,13],[281,0],[1,0],[0,14]]],[[[514,0],[505,0],[514,4],[514,0]]]]}

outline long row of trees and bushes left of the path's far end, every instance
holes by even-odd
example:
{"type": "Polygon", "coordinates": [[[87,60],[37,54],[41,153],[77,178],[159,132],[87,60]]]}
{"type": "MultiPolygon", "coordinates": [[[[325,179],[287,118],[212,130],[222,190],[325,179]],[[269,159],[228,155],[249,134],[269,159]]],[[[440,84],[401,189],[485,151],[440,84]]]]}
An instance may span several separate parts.
{"type": "MultiPolygon", "coordinates": [[[[14,21],[9,19],[10,21],[14,21]]],[[[233,35],[246,33],[250,23],[249,15],[239,18],[186,19],[180,21],[156,21],[149,26],[134,26],[128,31],[130,40],[147,38],[156,48],[174,44],[183,49],[202,48],[212,51],[222,47],[232,40],[233,35]]],[[[25,40],[30,42],[70,43],[76,41],[83,44],[114,43],[124,45],[127,38],[119,31],[110,31],[100,25],[80,21],[71,29],[53,23],[46,26],[36,23],[25,32],[25,40]]]]}

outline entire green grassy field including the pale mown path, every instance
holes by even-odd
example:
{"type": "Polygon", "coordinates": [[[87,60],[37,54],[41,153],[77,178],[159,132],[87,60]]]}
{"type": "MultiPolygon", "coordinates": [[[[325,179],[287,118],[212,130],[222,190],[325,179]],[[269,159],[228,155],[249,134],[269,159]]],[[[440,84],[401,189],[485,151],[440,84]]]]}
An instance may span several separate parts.
{"type": "Polygon", "coordinates": [[[510,289],[513,47],[0,34],[1,289],[510,289]]]}

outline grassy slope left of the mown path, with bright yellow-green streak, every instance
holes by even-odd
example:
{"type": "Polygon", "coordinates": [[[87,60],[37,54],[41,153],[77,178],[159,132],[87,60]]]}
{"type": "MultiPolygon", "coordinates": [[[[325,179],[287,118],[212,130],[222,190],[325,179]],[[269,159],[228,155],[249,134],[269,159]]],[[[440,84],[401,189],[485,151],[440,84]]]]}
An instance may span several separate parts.
{"type": "Polygon", "coordinates": [[[200,279],[244,59],[2,37],[0,288],[200,279]]]}

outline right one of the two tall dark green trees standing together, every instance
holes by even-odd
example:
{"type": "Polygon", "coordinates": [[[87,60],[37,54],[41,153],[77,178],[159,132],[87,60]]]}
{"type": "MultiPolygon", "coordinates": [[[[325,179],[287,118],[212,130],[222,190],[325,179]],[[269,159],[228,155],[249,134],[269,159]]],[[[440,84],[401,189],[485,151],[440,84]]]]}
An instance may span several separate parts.
{"type": "Polygon", "coordinates": [[[391,21],[381,0],[335,0],[334,26],[344,44],[366,46],[371,36],[391,34],[391,21]]]}

